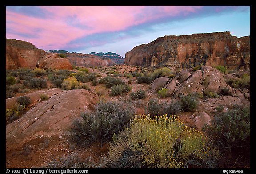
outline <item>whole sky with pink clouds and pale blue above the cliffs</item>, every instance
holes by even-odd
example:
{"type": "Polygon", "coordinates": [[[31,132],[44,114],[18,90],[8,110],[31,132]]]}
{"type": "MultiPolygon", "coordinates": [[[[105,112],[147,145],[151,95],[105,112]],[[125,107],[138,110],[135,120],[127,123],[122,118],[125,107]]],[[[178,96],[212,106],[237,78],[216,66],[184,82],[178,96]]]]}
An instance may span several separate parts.
{"type": "Polygon", "coordinates": [[[43,50],[125,57],[165,35],[250,35],[250,6],[6,6],[6,38],[43,50]]]}

